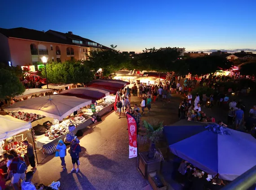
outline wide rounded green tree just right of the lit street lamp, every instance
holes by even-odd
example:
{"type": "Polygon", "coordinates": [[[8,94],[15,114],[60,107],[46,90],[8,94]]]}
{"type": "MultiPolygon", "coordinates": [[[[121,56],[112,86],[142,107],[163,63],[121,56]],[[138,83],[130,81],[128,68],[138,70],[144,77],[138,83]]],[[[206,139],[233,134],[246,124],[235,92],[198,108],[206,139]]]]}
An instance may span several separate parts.
{"type": "MultiPolygon", "coordinates": [[[[47,78],[51,83],[87,83],[93,79],[93,72],[81,61],[52,62],[46,64],[47,78]]],[[[45,70],[42,69],[45,76],[45,70]]]]}

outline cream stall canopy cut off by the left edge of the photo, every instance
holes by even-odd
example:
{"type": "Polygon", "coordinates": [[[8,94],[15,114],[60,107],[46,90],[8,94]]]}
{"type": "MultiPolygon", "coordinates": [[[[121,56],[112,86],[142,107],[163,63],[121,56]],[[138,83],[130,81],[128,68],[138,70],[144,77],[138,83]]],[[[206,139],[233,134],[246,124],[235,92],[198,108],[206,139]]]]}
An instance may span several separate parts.
{"type": "Polygon", "coordinates": [[[25,122],[9,115],[0,115],[0,141],[22,133],[30,128],[30,122],[25,122]]]}

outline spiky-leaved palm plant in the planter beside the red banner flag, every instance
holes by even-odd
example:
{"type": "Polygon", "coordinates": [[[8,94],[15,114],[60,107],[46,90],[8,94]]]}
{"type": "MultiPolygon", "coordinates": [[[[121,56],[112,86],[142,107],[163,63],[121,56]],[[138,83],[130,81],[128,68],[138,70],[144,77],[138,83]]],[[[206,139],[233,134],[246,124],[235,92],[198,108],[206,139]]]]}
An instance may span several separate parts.
{"type": "Polygon", "coordinates": [[[157,157],[159,161],[162,161],[163,155],[156,149],[155,143],[159,142],[159,139],[163,134],[163,122],[159,122],[158,120],[150,120],[147,122],[146,120],[143,120],[141,128],[137,139],[141,144],[150,142],[148,158],[157,157]]]}

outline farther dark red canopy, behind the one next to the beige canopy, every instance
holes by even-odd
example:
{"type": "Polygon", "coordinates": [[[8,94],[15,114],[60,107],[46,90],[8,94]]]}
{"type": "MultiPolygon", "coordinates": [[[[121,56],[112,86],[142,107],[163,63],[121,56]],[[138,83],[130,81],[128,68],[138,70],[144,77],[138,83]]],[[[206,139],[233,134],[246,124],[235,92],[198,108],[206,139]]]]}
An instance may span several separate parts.
{"type": "Polygon", "coordinates": [[[123,80],[113,80],[113,79],[98,79],[93,80],[87,84],[89,87],[102,87],[105,89],[115,89],[119,90],[124,88],[129,82],[123,80]]]}

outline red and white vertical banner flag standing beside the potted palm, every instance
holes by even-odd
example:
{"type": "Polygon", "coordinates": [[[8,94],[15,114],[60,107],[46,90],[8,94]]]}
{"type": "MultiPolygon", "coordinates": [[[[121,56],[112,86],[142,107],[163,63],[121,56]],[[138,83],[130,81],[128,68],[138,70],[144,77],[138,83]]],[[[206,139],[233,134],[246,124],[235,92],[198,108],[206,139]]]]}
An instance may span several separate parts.
{"type": "Polygon", "coordinates": [[[129,158],[137,157],[137,123],[135,118],[127,113],[129,134],[129,158]]]}

